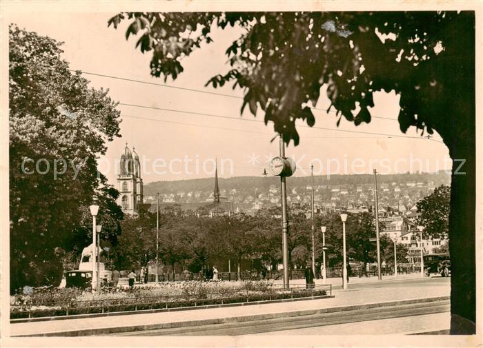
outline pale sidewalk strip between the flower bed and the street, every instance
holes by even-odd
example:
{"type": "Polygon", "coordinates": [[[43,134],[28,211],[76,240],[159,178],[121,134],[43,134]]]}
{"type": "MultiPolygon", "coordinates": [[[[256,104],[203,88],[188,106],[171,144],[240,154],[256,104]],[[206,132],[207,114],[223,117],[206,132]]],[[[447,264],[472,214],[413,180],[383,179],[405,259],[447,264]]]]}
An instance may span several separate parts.
{"type": "Polygon", "coordinates": [[[126,332],[132,331],[133,329],[142,330],[207,325],[224,323],[226,321],[254,320],[255,318],[258,319],[259,316],[266,316],[266,318],[277,318],[277,316],[282,314],[283,316],[297,316],[302,314],[297,313],[300,311],[335,309],[344,306],[368,305],[400,300],[436,298],[449,296],[450,294],[451,287],[449,283],[447,285],[440,283],[433,284],[427,278],[421,279],[421,282],[424,285],[402,286],[400,283],[394,283],[391,279],[386,279],[379,282],[380,285],[377,287],[351,289],[349,285],[349,289],[346,291],[335,291],[335,298],[319,300],[15,323],[10,325],[10,336],[78,336],[126,332]]]}

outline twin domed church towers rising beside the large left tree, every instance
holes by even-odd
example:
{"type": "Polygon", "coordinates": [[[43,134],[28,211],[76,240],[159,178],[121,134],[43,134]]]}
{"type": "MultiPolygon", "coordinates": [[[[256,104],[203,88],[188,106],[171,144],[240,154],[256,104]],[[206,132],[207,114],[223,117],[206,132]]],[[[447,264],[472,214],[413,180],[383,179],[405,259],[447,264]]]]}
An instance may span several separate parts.
{"type": "Polygon", "coordinates": [[[141,163],[134,147],[131,152],[127,143],[124,154],[121,155],[119,170],[117,190],[119,190],[120,195],[117,198],[117,204],[121,206],[125,214],[137,215],[139,205],[143,203],[141,163]]]}

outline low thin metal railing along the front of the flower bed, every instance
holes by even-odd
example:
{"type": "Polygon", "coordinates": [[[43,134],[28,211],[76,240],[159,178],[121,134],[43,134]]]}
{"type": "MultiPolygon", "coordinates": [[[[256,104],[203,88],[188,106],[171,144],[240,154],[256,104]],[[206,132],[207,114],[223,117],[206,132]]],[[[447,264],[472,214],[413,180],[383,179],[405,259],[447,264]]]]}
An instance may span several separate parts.
{"type": "MultiPolygon", "coordinates": [[[[314,298],[332,296],[332,285],[293,285],[283,289],[283,285],[272,285],[268,289],[237,289],[206,294],[183,294],[176,296],[136,296],[103,300],[71,300],[68,302],[41,301],[30,303],[28,308],[16,310],[10,307],[10,318],[41,318],[46,316],[72,316],[77,314],[104,314],[117,311],[140,311],[149,309],[175,309],[180,307],[200,307],[224,305],[228,303],[250,303],[288,298],[314,298]],[[37,309],[36,307],[49,307],[37,309]],[[49,315],[50,314],[50,315],[49,315]]],[[[25,307],[25,306],[24,306],[25,307]]]]}

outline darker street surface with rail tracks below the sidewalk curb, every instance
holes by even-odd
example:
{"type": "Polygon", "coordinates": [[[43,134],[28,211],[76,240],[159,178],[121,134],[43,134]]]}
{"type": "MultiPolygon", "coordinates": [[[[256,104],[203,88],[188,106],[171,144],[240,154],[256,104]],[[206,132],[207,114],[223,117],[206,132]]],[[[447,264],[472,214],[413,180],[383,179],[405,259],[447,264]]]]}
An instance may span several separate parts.
{"type": "MultiPolygon", "coordinates": [[[[337,311],[326,314],[313,314],[297,318],[276,318],[255,320],[246,323],[226,323],[220,325],[204,325],[201,327],[180,327],[175,329],[160,329],[127,333],[129,336],[239,336],[250,334],[265,334],[267,332],[283,332],[283,334],[297,334],[307,331],[318,334],[320,327],[341,325],[346,323],[368,322],[388,318],[404,318],[426,316],[449,312],[449,300],[433,303],[416,303],[411,305],[380,307],[373,309],[359,309],[353,311],[337,311]],[[281,330],[283,328],[283,330],[281,330]]],[[[444,327],[443,327],[444,329],[444,327]]],[[[408,331],[400,327],[402,331],[408,331]]],[[[337,334],[342,334],[337,329],[337,334]]],[[[344,334],[360,334],[360,331],[348,331],[344,334]]],[[[126,334],[116,334],[126,335],[126,334]]]]}

